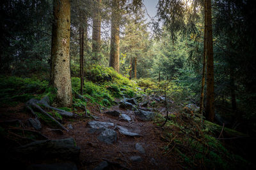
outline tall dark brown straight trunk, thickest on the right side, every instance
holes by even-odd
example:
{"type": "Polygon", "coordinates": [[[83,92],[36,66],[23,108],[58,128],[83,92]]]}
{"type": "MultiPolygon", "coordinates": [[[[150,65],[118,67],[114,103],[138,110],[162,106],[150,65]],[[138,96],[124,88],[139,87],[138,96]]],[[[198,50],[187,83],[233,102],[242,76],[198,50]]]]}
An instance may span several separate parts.
{"type": "Polygon", "coordinates": [[[206,6],[206,56],[207,56],[207,91],[205,113],[208,120],[214,121],[214,62],[213,62],[213,45],[212,45],[212,12],[211,0],[205,0],[206,6]]]}

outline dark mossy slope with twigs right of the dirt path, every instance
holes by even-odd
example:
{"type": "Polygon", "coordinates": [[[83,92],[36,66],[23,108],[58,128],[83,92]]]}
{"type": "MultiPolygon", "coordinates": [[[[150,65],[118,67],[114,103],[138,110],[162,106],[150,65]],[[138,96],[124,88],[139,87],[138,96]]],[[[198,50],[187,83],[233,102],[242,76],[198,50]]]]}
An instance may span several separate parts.
{"type": "MultiPolygon", "coordinates": [[[[158,114],[154,123],[158,126],[165,121],[158,114]]],[[[220,140],[210,131],[209,124],[200,122],[186,113],[170,115],[170,120],[164,125],[163,136],[166,141],[163,147],[164,155],[173,155],[179,159],[184,169],[242,169],[248,168],[250,162],[225,148],[220,140]]]]}

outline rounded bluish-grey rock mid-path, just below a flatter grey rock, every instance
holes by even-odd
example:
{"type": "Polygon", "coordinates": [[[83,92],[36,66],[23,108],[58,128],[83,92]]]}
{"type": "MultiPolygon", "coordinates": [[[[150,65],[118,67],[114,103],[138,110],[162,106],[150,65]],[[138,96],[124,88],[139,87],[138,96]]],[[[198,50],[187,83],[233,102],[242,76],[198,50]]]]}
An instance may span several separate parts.
{"type": "Polygon", "coordinates": [[[104,143],[112,144],[117,140],[116,131],[106,128],[100,133],[98,139],[104,143]]]}

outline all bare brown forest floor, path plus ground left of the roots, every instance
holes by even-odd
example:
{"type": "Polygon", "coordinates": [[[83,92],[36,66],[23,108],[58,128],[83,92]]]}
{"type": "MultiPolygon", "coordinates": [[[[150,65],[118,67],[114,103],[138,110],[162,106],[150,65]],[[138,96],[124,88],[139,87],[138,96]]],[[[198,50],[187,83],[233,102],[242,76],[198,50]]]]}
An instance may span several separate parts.
{"type": "MultiPolygon", "coordinates": [[[[24,125],[28,125],[28,118],[31,115],[24,111],[24,104],[20,103],[15,107],[2,107],[0,108],[1,122],[8,122],[10,120],[20,120],[24,125]],[[12,113],[12,114],[10,114],[12,113]]],[[[159,108],[163,110],[164,108],[159,108]]],[[[48,139],[63,139],[74,138],[76,145],[81,148],[79,155],[79,161],[77,167],[79,169],[93,169],[97,167],[100,162],[107,161],[107,169],[182,169],[182,166],[175,160],[172,154],[164,155],[164,146],[166,141],[161,139],[163,129],[154,124],[153,121],[141,121],[136,118],[134,111],[125,110],[118,105],[99,110],[97,106],[89,106],[90,113],[97,117],[100,122],[111,122],[115,125],[120,125],[129,129],[130,132],[140,134],[139,137],[125,136],[117,132],[117,141],[113,144],[103,143],[97,139],[97,134],[90,133],[90,127],[88,122],[93,121],[92,118],[66,118],[62,124],[65,127],[72,125],[72,129],[68,132],[63,131],[63,134],[57,134],[56,132],[49,131],[49,126],[42,124],[40,132],[48,139]],[[106,111],[118,111],[125,113],[132,118],[131,122],[120,120],[118,117],[107,115],[103,112],[106,111]],[[145,153],[140,153],[136,150],[136,143],[140,143],[143,146],[145,153]],[[132,156],[140,156],[139,160],[131,160],[132,156]]],[[[33,127],[26,126],[26,129],[35,131],[33,127]]],[[[7,143],[6,148],[14,147],[11,143],[7,143]]],[[[18,158],[19,159],[19,158],[18,158]]],[[[35,162],[25,161],[26,166],[34,164],[35,162]]],[[[40,163],[36,161],[36,163],[40,163]]]]}

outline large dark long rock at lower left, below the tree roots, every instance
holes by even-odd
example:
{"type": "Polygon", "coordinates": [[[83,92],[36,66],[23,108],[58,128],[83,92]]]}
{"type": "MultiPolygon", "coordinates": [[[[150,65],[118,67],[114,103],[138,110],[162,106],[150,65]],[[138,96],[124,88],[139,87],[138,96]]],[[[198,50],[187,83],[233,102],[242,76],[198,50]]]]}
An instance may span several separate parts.
{"type": "Polygon", "coordinates": [[[67,138],[35,141],[15,148],[15,152],[27,157],[54,157],[77,160],[80,148],[76,146],[74,138],[67,138]]]}

